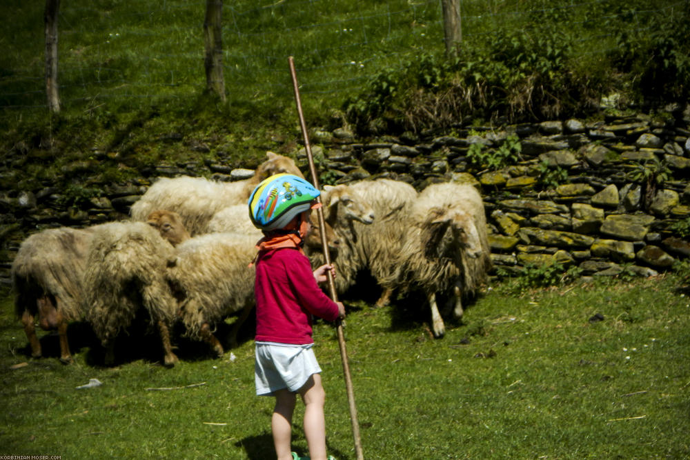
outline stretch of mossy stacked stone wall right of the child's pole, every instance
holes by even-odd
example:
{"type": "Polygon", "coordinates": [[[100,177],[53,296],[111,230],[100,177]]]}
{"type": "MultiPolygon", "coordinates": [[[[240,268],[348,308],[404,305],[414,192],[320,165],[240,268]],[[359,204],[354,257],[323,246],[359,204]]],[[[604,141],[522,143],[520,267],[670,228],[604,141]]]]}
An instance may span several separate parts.
{"type": "Polygon", "coordinates": [[[395,138],[356,143],[341,133],[319,154],[339,181],[393,177],[419,190],[433,181],[475,183],[485,200],[495,267],[506,272],[560,263],[585,275],[649,276],[690,255],[690,243],[671,230],[690,217],[689,121],[688,114],[680,123],[645,115],[591,124],[571,119],[499,132],[456,130],[408,139],[411,145],[395,138]],[[473,143],[498,148],[511,134],[520,138],[519,161],[500,170],[473,168],[473,143]],[[561,168],[568,179],[543,190],[545,167],[561,168]],[[635,177],[635,170],[662,179],[648,203],[645,176],[635,177]]]}

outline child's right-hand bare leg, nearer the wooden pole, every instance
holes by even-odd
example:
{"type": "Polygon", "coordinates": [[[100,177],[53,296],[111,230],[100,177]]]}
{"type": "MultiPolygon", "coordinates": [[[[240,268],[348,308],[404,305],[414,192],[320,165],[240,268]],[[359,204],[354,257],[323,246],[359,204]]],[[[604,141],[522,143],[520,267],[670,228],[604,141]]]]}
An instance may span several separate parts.
{"type": "Polygon", "coordinates": [[[321,383],[321,374],[313,374],[299,394],[304,401],[304,436],[312,460],[326,460],[326,417],[324,404],[326,392],[321,383]]]}

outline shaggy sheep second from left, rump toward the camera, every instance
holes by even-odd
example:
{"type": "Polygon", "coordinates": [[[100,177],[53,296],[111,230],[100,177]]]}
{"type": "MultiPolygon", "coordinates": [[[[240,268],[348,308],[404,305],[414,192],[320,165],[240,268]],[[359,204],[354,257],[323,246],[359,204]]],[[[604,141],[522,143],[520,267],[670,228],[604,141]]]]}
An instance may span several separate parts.
{"type": "Polygon", "coordinates": [[[170,344],[177,302],[165,279],[175,248],[145,222],[105,223],[93,230],[83,276],[86,319],[106,348],[106,366],[114,361],[114,341],[143,307],[155,323],[164,349],[164,365],[178,359],[170,344]]]}

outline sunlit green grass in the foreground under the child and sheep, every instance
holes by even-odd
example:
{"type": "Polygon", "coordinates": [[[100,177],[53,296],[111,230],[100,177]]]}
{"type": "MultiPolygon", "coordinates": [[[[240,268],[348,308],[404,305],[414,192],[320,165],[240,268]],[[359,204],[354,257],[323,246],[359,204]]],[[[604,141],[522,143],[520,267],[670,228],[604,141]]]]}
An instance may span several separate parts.
{"type": "MultiPolygon", "coordinates": [[[[611,459],[690,455],[690,298],[669,274],[516,297],[493,286],[464,324],[430,338],[426,312],[351,301],[346,324],[367,459],[611,459]],[[600,313],[604,321],[589,319],[600,313]]],[[[0,317],[0,454],[62,458],[266,459],[272,400],[254,395],[253,343],[222,359],[178,340],[170,370],[131,351],[98,365],[88,334],[76,363],[30,359],[11,314],[0,317]],[[28,366],[10,370],[17,363],[28,366]],[[97,388],[75,387],[97,378],[97,388]],[[191,386],[204,383],[201,386],[191,386]],[[175,390],[147,388],[187,387],[175,390]],[[223,423],[213,425],[210,423],[223,423]]],[[[75,331],[79,330],[74,328],[75,331]]],[[[84,328],[81,328],[83,331],[84,328]]],[[[86,337],[86,338],[84,338],[86,337]]],[[[54,337],[43,341],[55,353],[54,337]]],[[[328,448],[354,458],[335,331],[315,327],[328,448]]],[[[50,350],[50,348],[48,348],[50,350]]],[[[293,447],[306,451],[298,406],[293,447]]]]}

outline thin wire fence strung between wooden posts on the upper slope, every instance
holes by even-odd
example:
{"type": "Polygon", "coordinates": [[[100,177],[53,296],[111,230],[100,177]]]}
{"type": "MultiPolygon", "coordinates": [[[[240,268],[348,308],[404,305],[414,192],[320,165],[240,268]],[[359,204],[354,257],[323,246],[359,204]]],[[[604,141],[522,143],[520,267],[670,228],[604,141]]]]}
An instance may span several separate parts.
{"type": "MultiPolygon", "coordinates": [[[[63,106],[174,100],[204,90],[204,2],[98,3],[66,1],[59,12],[63,106]]],[[[382,70],[403,71],[411,59],[444,50],[440,0],[277,0],[246,3],[244,8],[237,3],[223,5],[224,79],[228,97],[236,101],[291,95],[290,55],[302,93],[342,101],[382,70]]],[[[504,30],[549,17],[560,21],[564,32],[601,28],[572,39],[575,57],[590,59],[615,49],[613,31],[605,24],[615,20],[643,33],[649,14],[687,14],[688,5],[687,0],[664,1],[635,10],[613,8],[614,3],[533,0],[508,6],[507,1],[466,0],[461,4],[462,37],[466,43],[491,41],[504,30]]],[[[4,40],[11,50],[0,73],[4,112],[47,108],[42,10],[25,8],[21,14],[8,21],[17,21],[17,27],[30,24],[30,33],[4,40]]]]}

